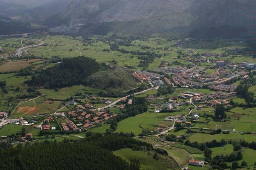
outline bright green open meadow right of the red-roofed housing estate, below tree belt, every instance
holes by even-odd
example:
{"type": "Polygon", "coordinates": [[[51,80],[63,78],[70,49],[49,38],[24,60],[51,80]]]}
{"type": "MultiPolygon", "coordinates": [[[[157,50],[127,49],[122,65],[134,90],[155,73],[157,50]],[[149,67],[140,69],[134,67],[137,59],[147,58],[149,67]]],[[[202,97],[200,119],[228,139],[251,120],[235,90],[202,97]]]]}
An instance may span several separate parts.
{"type": "Polygon", "coordinates": [[[116,132],[130,133],[135,135],[142,133],[142,128],[153,130],[155,126],[159,124],[165,124],[172,126],[173,122],[165,122],[164,119],[168,116],[174,116],[177,114],[186,114],[188,111],[180,111],[174,113],[142,113],[134,117],[126,118],[120,121],[117,125],[116,132]],[[142,128],[140,128],[140,126],[142,128]]]}

